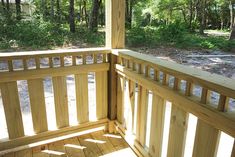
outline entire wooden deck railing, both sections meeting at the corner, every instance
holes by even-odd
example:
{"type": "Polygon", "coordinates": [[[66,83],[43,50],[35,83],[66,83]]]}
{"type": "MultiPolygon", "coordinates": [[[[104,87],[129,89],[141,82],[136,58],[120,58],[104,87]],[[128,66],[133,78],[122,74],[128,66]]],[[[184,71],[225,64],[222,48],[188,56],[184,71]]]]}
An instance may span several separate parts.
{"type": "Polygon", "coordinates": [[[113,129],[113,123],[107,118],[109,110],[110,117],[117,117],[114,123],[123,137],[131,135],[127,141],[134,140],[134,144],[129,144],[138,155],[160,157],[166,102],[172,104],[168,157],[184,155],[189,114],[198,118],[193,157],[216,156],[220,132],[235,137],[235,83],[232,79],[124,49],[2,53],[0,63],[7,65],[0,71],[0,89],[9,135],[7,139],[0,139],[0,151],[107,126],[108,122],[113,129]],[[90,72],[95,73],[96,121],[89,119],[90,72]],[[69,124],[68,75],[73,75],[75,80],[78,121],[75,126],[69,124]],[[48,130],[46,114],[43,80],[47,77],[51,78],[53,86],[57,126],[53,131],[48,130]],[[27,124],[22,120],[19,80],[27,81],[35,133],[31,136],[25,135],[27,124]],[[148,127],[150,138],[147,137],[148,127]]]}

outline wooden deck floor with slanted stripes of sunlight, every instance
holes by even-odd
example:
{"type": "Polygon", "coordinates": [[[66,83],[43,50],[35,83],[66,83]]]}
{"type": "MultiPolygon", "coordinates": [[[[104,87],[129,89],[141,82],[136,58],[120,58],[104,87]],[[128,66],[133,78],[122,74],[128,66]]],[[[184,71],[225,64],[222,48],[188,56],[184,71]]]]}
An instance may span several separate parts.
{"type": "MultiPolygon", "coordinates": [[[[137,157],[119,134],[93,132],[5,154],[3,157],[137,157]]],[[[2,156],[1,156],[2,157],[2,156]]]]}

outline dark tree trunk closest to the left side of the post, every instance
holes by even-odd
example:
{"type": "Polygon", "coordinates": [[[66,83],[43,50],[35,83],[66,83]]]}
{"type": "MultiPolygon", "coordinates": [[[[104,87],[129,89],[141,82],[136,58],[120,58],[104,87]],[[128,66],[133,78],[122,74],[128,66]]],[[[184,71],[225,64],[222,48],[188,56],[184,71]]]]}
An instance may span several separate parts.
{"type": "Polygon", "coordinates": [[[92,9],[89,20],[89,30],[97,32],[98,31],[98,16],[99,16],[99,1],[93,0],[92,9]]]}

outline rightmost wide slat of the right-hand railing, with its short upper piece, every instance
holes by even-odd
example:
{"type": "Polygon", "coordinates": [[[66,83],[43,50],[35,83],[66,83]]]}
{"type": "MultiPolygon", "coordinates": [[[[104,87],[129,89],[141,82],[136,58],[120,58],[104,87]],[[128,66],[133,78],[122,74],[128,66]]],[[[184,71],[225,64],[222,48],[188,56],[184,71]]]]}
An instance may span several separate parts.
{"type": "MultiPolygon", "coordinates": [[[[202,89],[201,103],[206,104],[210,94],[208,89],[202,89]]],[[[202,120],[198,120],[193,148],[193,157],[216,156],[220,131],[202,120]]]]}

